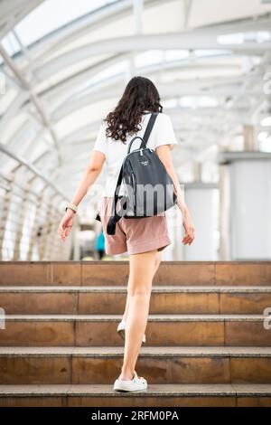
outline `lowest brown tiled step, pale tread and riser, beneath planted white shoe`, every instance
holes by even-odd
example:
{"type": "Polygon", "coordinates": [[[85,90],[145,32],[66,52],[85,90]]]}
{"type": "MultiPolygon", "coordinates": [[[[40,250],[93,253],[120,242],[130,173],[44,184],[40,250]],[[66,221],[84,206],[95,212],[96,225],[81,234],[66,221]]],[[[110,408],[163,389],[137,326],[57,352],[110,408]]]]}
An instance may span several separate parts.
{"type": "Polygon", "coordinates": [[[270,384],[153,384],[144,392],[100,385],[0,385],[0,406],[271,406],[270,384]]]}

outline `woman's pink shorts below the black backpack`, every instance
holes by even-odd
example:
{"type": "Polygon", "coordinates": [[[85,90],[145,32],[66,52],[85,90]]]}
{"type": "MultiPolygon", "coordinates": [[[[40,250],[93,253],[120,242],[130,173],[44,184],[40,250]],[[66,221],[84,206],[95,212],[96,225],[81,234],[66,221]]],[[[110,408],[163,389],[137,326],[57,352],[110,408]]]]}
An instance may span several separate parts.
{"type": "Polygon", "coordinates": [[[164,250],[171,243],[165,213],[138,219],[122,217],[116,224],[115,235],[107,234],[112,201],[112,197],[103,197],[99,208],[107,254],[139,254],[148,250],[164,250]]]}

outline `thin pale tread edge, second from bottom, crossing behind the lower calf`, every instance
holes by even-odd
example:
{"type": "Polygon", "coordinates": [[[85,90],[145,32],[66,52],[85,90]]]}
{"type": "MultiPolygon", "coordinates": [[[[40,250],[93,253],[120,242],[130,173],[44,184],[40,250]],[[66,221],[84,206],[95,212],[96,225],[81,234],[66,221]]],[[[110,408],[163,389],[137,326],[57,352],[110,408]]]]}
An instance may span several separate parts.
{"type": "MultiPolygon", "coordinates": [[[[97,347],[20,347],[20,346],[2,346],[0,347],[0,357],[9,356],[96,356],[96,357],[111,357],[123,356],[124,347],[121,346],[97,346],[97,347]]],[[[226,347],[226,346],[211,346],[211,347],[178,347],[178,346],[142,346],[139,356],[175,356],[182,355],[185,357],[271,357],[271,347],[226,347]]]]}

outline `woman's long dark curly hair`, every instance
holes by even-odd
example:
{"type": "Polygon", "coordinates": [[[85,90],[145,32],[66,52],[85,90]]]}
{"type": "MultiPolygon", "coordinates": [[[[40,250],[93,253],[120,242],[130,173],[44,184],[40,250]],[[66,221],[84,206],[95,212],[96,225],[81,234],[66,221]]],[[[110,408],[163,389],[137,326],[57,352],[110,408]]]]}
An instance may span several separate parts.
{"type": "Polygon", "coordinates": [[[126,142],[126,135],[141,130],[142,116],[147,112],[162,112],[160,96],[154,83],[145,77],[133,77],[117,103],[117,107],[107,114],[106,136],[126,142]]]}

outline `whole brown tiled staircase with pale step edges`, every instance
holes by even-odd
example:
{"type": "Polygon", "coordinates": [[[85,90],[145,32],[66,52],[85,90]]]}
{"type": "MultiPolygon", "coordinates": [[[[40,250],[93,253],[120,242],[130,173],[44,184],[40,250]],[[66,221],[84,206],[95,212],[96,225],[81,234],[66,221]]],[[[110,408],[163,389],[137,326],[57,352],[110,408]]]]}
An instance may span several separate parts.
{"type": "Polygon", "coordinates": [[[126,261],[2,261],[0,406],[271,406],[271,262],[166,261],[136,372],[114,392],[126,261]]]}

